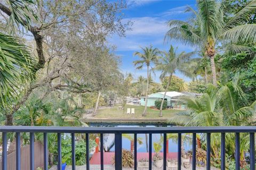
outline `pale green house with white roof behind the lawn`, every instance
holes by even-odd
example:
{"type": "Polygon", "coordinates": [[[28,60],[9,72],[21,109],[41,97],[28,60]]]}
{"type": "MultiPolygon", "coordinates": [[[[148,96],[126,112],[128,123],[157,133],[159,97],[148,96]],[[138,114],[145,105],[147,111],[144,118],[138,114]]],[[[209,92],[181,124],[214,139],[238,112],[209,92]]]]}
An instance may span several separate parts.
{"type": "MultiPolygon", "coordinates": [[[[177,103],[178,98],[180,96],[183,96],[181,92],[177,91],[167,91],[165,95],[165,100],[167,100],[167,106],[173,106],[175,108],[184,108],[185,106],[181,106],[180,104],[177,103]]],[[[147,106],[155,106],[155,101],[159,99],[163,99],[164,97],[164,92],[157,92],[156,94],[151,94],[148,95],[148,103],[147,106]]],[[[140,105],[145,106],[145,98],[146,97],[141,97],[140,98],[140,105]]]]}

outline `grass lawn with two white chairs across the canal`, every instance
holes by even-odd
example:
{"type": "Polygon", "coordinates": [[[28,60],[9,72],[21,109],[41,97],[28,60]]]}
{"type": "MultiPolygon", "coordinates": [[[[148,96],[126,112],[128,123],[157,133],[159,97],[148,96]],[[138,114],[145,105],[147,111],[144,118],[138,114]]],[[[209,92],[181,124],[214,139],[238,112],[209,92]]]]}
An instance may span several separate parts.
{"type": "Polygon", "coordinates": [[[99,109],[97,115],[94,116],[94,118],[106,118],[110,120],[137,120],[137,119],[143,119],[143,120],[166,120],[167,118],[170,118],[174,113],[179,112],[178,110],[174,109],[165,109],[163,111],[163,117],[159,117],[159,110],[157,109],[151,109],[148,107],[148,114],[147,116],[142,116],[142,112],[144,111],[144,106],[135,106],[135,105],[126,105],[122,111],[117,110],[118,106],[114,106],[112,108],[104,108],[99,109]],[[135,108],[135,114],[126,114],[127,108],[135,108]]]}

